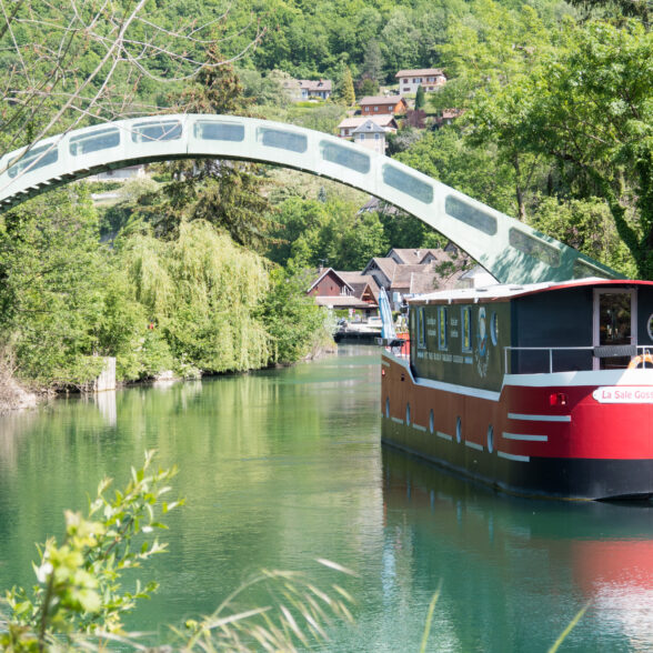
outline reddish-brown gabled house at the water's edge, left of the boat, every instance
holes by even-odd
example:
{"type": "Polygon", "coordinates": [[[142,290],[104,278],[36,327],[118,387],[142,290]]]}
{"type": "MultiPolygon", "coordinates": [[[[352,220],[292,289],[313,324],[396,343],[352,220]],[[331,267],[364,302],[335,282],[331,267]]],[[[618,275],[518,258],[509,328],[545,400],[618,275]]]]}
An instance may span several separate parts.
{"type": "Polygon", "coordinates": [[[376,314],[379,309],[379,289],[372,278],[361,272],[322,268],[307,294],[313,295],[321,307],[358,310],[365,317],[376,314]]]}

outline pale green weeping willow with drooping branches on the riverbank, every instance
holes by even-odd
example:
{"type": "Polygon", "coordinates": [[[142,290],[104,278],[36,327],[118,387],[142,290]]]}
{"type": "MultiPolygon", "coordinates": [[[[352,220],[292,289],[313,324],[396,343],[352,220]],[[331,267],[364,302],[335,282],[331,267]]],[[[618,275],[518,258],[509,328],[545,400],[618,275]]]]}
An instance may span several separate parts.
{"type": "Polygon", "coordinates": [[[174,240],[132,235],[120,255],[152,330],[168,342],[178,372],[263,368],[269,336],[258,319],[269,277],[263,259],[203,220],[174,240]]]}

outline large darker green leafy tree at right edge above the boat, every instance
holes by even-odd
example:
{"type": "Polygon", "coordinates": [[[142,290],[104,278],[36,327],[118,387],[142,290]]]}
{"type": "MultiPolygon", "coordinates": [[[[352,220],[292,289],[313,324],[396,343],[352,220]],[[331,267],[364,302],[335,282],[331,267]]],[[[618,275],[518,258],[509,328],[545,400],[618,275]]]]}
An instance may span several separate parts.
{"type": "Polygon", "coordinates": [[[520,144],[586,179],[607,202],[639,273],[651,279],[653,34],[635,22],[593,22],[569,27],[566,37],[569,49],[553,52],[518,96],[515,127],[528,124],[520,144]]]}

